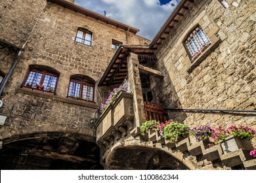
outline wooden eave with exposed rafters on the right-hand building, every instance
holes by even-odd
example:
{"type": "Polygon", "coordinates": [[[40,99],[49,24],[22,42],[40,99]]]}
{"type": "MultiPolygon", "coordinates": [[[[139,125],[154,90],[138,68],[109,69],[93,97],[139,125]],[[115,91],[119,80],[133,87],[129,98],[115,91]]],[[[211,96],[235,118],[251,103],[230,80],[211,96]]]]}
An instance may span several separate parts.
{"type": "Polygon", "coordinates": [[[189,10],[192,3],[194,3],[194,0],[181,0],[150,43],[150,48],[158,48],[165,41],[167,35],[174,29],[175,24],[184,16],[184,13],[189,10]]]}

